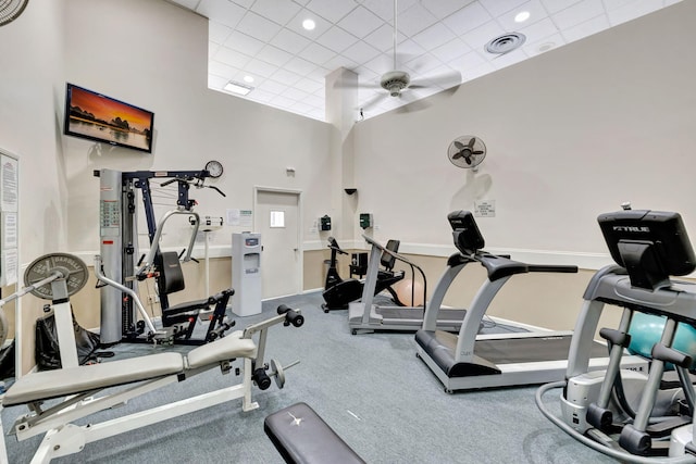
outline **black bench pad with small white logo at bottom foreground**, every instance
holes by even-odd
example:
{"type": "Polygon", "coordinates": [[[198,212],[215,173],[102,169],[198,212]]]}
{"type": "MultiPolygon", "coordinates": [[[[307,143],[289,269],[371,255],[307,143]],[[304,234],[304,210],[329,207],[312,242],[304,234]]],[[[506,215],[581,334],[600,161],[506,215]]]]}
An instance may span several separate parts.
{"type": "Polygon", "coordinates": [[[364,464],[306,403],[271,414],[263,422],[263,430],[288,464],[364,464]]]}

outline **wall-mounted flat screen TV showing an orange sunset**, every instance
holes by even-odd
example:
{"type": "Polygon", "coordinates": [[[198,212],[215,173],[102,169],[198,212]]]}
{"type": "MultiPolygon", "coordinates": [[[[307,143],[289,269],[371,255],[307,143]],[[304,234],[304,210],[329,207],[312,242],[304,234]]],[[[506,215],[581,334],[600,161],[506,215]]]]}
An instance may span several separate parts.
{"type": "Polygon", "coordinates": [[[70,83],[64,127],[69,136],[152,152],[154,113],[70,83]]]}

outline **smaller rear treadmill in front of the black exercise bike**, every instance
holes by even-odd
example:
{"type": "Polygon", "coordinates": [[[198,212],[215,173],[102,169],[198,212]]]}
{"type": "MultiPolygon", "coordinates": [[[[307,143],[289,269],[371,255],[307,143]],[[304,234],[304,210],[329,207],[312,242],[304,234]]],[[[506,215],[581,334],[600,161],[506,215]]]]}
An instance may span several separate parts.
{"type": "MultiPolygon", "coordinates": [[[[427,286],[425,283],[425,274],[423,269],[406,256],[389,250],[377,243],[372,238],[363,235],[368,243],[372,247],[368,259],[368,274],[365,276],[364,287],[362,289],[362,298],[360,301],[352,302],[348,305],[348,325],[352,335],[370,334],[375,331],[411,331],[414,333],[423,326],[423,317],[425,315],[425,294],[427,286]],[[380,305],[374,302],[374,289],[377,281],[377,272],[380,268],[381,256],[389,255],[394,259],[409,265],[412,275],[418,269],[423,278],[423,306],[399,306],[399,305],[380,305]]],[[[411,299],[413,301],[413,299],[411,299]]],[[[458,331],[464,318],[465,310],[443,310],[436,321],[438,330],[458,331]]]]}

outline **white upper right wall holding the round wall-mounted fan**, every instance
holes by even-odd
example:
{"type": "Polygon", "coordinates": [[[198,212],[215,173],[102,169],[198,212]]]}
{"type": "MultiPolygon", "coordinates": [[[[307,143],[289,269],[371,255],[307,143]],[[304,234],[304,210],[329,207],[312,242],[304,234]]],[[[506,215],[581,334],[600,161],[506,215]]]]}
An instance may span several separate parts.
{"type": "MultiPolygon", "coordinates": [[[[446,216],[492,200],[486,246],[606,253],[596,217],[681,212],[696,238],[696,2],[681,2],[356,128],[359,212],[380,240],[451,247],[446,216]],[[448,161],[481,137],[478,173],[448,161]]],[[[357,220],[356,220],[357,221],[357,220]]]]}

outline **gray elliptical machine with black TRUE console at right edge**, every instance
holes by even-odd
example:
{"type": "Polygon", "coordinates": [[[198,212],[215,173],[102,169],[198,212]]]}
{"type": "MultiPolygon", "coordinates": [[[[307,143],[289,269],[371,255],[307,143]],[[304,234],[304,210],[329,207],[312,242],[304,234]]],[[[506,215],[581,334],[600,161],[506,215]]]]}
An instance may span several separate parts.
{"type": "Polygon", "coordinates": [[[679,324],[696,325],[696,288],[670,278],[696,269],[686,229],[678,213],[632,211],[627,205],[600,215],[598,222],[618,265],[592,278],[571,342],[567,380],[540,387],[536,404],[571,437],[622,462],[694,463],[694,353],[678,351],[673,342],[679,324]],[[592,371],[587,347],[605,305],[621,308],[621,321],[618,329],[599,331],[610,348],[610,362],[606,371],[592,371]],[[666,317],[647,375],[619,365],[632,335],[637,335],[629,333],[635,312],[666,317]],[[666,383],[668,363],[676,373],[672,385],[666,383]],[[562,417],[544,404],[543,396],[555,388],[563,389],[562,417]]]}

